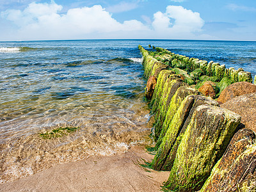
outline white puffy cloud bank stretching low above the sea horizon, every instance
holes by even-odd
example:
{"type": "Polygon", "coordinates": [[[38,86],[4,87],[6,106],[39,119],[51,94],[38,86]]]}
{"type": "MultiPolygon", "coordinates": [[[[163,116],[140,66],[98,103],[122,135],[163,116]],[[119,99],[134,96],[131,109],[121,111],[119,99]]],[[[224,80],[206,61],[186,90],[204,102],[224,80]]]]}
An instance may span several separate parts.
{"type": "Polygon", "coordinates": [[[1,34],[3,32],[0,32],[0,36],[12,38],[11,40],[193,39],[198,38],[195,34],[200,33],[204,26],[204,20],[200,18],[199,13],[186,10],[182,6],[167,6],[165,13],[155,13],[152,22],[145,24],[139,20],[118,22],[100,5],[73,8],[64,14],[60,13],[62,9],[61,5],[52,1],[51,3],[30,3],[24,10],[1,12],[2,20],[12,21],[13,33],[1,34]]]}

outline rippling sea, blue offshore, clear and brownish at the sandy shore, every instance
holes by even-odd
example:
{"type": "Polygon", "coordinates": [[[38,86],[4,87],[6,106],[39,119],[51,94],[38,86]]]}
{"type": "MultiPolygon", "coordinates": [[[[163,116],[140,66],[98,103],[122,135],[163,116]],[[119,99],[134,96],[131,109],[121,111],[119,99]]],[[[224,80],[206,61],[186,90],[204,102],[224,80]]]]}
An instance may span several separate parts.
{"type": "Polygon", "coordinates": [[[256,74],[256,42],[0,42],[0,182],[154,143],[138,49],[149,44],[256,74]]]}

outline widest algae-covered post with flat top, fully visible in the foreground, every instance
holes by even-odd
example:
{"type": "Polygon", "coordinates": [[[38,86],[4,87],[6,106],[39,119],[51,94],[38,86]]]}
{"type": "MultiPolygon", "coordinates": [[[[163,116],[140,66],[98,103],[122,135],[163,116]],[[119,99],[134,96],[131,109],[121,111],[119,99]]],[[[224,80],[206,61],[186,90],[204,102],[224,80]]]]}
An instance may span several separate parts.
{"type": "Polygon", "coordinates": [[[180,142],[166,182],[172,191],[198,191],[225,152],[241,116],[216,106],[198,106],[180,142]]]}

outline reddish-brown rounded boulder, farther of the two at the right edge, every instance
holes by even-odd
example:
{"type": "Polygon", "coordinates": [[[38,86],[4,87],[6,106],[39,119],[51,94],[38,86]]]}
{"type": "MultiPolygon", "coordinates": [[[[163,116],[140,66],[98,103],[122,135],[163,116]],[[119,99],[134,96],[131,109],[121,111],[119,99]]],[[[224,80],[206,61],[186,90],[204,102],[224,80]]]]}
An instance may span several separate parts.
{"type": "Polygon", "coordinates": [[[230,84],[220,93],[220,97],[218,98],[218,102],[227,102],[234,97],[248,94],[248,93],[255,93],[256,92],[256,85],[252,83],[248,83],[246,81],[237,82],[234,84],[230,84]]]}

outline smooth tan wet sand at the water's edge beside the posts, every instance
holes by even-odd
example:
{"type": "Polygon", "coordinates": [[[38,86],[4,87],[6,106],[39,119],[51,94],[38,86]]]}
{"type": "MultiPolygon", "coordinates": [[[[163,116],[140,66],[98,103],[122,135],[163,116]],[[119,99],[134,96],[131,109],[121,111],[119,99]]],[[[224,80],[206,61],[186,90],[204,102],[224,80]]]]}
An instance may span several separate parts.
{"type": "Polygon", "coordinates": [[[0,184],[0,191],[160,191],[170,172],[156,172],[138,164],[153,158],[143,146],[134,146],[124,154],[52,166],[0,184]]]}

